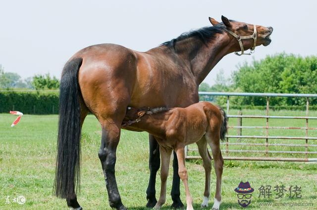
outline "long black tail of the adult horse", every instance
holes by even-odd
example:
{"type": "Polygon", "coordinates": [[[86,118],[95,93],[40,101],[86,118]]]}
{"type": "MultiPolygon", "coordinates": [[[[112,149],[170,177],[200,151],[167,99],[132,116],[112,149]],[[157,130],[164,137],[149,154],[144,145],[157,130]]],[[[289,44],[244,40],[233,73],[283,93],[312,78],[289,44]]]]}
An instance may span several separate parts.
{"type": "Polygon", "coordinates": [[[59,92],[59,123],[54,192],[73,198],[80,180],[80,103],[78,70],[82,58],[68,61],[62,71],[59,92]],[[76,187],[75,187],[76,186],[76,187]]]}

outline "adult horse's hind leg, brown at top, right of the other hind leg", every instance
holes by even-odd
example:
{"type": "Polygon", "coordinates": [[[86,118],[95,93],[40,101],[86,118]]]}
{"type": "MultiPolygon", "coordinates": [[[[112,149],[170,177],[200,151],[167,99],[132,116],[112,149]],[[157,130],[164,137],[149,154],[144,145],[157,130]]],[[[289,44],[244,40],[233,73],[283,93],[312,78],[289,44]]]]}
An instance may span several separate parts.
{"type": "Polygon", "coordinates": [[[100,119],[100,123],[102,125],[102,139],[98,155],[105,175],[109,205],[117,210],[126,210],[121,202],[114,175],[116,148],[120,139],[120,124],[117,125],[112,119],[100,119]]]}

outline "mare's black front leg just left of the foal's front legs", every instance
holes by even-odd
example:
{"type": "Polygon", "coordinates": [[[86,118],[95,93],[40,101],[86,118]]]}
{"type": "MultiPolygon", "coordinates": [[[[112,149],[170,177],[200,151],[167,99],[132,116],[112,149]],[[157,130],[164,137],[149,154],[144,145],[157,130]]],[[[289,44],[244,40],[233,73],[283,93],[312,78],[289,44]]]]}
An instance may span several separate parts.
{"type": "Polygon", "coordinates": [[[153,208],[158,202],[155,198],[155,181],[157,177],[157,172],[159,170],[159,143],[154,138],[153,135],[149,135],[150,144],[150,158],[149,158],[149,168],[150,168],[150,180],[147,189],[147,207],[153,208]]]}

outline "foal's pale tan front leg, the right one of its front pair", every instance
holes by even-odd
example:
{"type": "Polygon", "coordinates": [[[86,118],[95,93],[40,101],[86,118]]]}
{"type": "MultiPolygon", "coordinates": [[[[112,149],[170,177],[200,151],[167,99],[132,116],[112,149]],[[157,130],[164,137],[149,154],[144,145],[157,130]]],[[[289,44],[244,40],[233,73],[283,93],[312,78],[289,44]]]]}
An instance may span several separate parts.
{"type": "Polygon", "coordinates": [[[178,174],[180,179],[183,181],[184,186],[185,186],[185,192],[186,192],[186,204],[187,208],[186,210],[194,210],[193,209],[193,199],[192,196],[190,195],[189,192],[189,187],[188,187],[188,174],[187,174],[187,169],[185,168],[185,149],[184,146],[178,146],[176,148],[176,155],[177,155],[177,160],[178,160],[178,174]]]}

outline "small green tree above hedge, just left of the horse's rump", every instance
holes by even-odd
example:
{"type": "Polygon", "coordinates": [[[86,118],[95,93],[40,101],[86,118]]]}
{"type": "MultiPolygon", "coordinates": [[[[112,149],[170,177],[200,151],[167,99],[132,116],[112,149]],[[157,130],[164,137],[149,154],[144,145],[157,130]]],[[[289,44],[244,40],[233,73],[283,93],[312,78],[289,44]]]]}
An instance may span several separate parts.
{"type": "Polygon", "coordinates": [[[33,77],[32,85],[37,90],[58,89],[59,88],[59,80],[55,76],[53,76],[53,78],[51,78],[50,74],[35,75],[33,77]]]}

